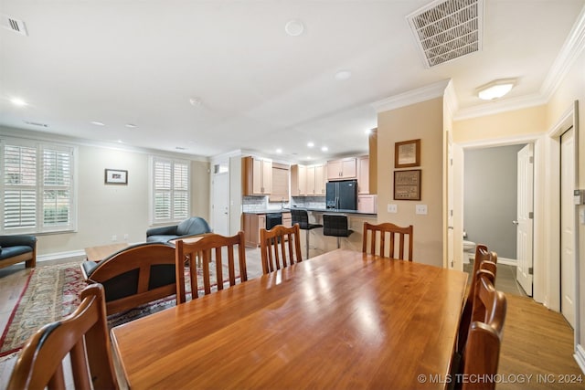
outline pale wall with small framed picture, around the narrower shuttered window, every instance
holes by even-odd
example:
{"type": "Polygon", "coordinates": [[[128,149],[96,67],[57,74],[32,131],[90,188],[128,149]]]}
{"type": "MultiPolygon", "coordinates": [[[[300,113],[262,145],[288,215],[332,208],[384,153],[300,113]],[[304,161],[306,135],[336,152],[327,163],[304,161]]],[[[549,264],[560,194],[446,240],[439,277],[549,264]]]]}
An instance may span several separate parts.
{"type": "MultiPolygon", "coordinates": [[[[11,129],[0,129],[9,133],[11,129]]],[[[14,136],[10,134],[9,136],[14,136]]],[[[29,137],[30,138],[30,137],[29,137]]],[[[55,140],[63,142],[63,140],[55,140]]],[[[70,142],[69,142],[70,144],[70,142]]],[[[186,156],[176,155],[186,159],[186,156]]],[[[39,256],[76,252],[118,242],[142,242],[149,227],[149,154],[79,145],[78,231],[39,235],[39,256]],[[104,169],[128,171],[128,185],[104,184],[104,169]],[[124,235],[128,238],[124,239],[124,235]]],[[[191,213],[209,220],[209,163],[191,162],[191,213]]]]}

